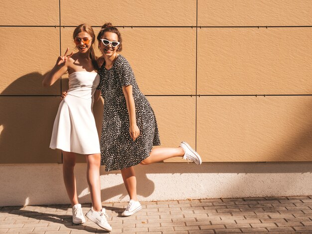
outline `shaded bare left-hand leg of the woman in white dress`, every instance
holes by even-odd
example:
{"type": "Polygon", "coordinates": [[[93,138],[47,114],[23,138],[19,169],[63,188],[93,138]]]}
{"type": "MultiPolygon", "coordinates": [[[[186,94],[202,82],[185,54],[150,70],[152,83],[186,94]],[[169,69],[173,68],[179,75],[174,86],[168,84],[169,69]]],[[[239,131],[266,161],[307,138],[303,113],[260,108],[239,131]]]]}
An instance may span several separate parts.
{"type": "Polygon", "coordinates": [[[76,164],[75,153],[63,151],[63,178],[67,195],[72,206],[78,204],[76,179],[74,175],[74,167],[76,164]]]}

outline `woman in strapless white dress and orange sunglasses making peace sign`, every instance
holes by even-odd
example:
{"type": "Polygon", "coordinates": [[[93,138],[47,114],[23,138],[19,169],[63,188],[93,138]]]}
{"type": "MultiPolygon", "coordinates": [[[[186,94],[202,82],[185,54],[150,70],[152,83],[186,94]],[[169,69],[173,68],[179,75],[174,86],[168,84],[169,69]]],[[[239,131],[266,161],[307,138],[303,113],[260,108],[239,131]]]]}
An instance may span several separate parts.
{"type": "Polygon", "coordinates": [[[73,39],[78,52],[67,55],[67,48],[42,82],[48,87],[66,72],[69,74],[69,89],[55,117],[50,148],[60,149],[63,153],[63,177],[73,206],[73,223],[86,222],[78,202],[74,175],[76,154],[82,154],[88,165],[87,181],[92,200],[92,207],[86,216],[104,230],[111,231],[101,203],[100,144],[92,111],[94,93],[100,82],[93,48],[95,34],[91,26],[80,24],[74,30],[73,39]]]}

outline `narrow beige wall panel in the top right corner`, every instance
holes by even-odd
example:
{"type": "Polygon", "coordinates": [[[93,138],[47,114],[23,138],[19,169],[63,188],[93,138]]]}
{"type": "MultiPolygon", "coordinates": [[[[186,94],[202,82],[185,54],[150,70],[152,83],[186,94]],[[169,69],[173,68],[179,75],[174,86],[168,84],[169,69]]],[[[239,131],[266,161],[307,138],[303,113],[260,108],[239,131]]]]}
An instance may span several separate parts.
{"type": "Polygon", "coordinates": [[[198,0],[198,25],[311,25],[311,0],[198,0]]]}

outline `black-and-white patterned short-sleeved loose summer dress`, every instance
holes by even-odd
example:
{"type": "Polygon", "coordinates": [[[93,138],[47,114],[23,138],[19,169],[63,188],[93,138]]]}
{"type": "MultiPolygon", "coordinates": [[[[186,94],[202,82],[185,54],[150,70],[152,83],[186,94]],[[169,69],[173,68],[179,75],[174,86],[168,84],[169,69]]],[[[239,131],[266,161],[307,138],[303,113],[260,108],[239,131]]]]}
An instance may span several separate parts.
{"type": "Polygon", "coordinates": [[[100,69],[97,89],[104,98],[101,134],[101,165],[106,171],[122,170],[149,157],[152,147],[160,145],[154,111],[141,93],[128,60],[118,55],[111,69],[100,69]],[[140,136],[130,137],[129,114],[122,86],[132,85],[140,136]]]}

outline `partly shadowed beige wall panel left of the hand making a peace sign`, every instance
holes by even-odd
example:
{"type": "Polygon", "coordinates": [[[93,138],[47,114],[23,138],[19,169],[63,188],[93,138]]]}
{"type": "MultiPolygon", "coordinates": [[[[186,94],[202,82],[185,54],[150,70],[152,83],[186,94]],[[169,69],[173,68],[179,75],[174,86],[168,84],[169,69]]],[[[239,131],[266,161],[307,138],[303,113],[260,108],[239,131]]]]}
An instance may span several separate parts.
{"type": "Polygon", "coordinates": [[[49,27],[2,27],[0,34],[10,41],[4,46],[0,64],[0,94],[58,95],[60,82],[42,87],[46,72],[59,56],[59,29],[49,27]]]}

